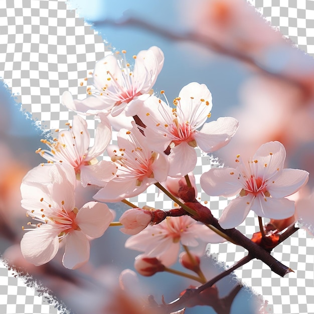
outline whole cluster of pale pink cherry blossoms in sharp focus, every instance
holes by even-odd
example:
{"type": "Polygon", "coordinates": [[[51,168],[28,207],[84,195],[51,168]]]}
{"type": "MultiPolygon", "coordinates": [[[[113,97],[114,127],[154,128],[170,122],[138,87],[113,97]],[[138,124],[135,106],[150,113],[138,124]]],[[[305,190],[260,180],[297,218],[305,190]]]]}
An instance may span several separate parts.
{"type": "MultiPolygon", "coordinates": [[[[193,189],[189,198],[196,201],[195,147],[212,153],[225,146],[235,135],[238,121],[233,117],[210,121],[212,95],[204,84],[187,84],[172,104],[165,91],[155,93],[152,88],[164,64],[158,47],[133,56],[133,67],[126,61],[125,51],[122,55],[109,55],[96,63],[93,87],[87,88],[86,99],[73,99],[69,92],[62,95],[63,105],[80,115],[74,116],[68,129],[58,130],[58,138],[42,140],[47,148],[36,152],[47,163],[23,179],[22,206],[36,223],[25,228],[29,232],[21,241],[21,250],[35,265],[49,262],[62,245],[65,267],[86,263],[89,241],[117,224],[105,203],[129,203],[125,199],[152,184],[165,186],[180,208],[166,211],[133,206],[121,216],[121,231],[131,235],[125,247],[143,253],[135,261],[140,273],[147,274],[151,269],[147,265],[158,265],[156,271],[173,265],[181,246],[196,262],[208,243],[226,240],[222,232],[217,234],[217,228],[195,219],[194,209],[185,205],[191,200],[185,200],[181,192],[188,186],[193,189]],[[92,147],[84,115],[98,120],[92,147]],[[112,143],[112,129],[118,132],[116,144],[112,143]],[[94,201],[78,209],[76,189],[89,185],[97,188],[94,201]]],[[[241,224],[250,210],[270,219],[293,216],[294,202],[286,197],[306,184],[308,173],[284,169],[284,161],[284,146],[268,142],[247,163],[237,155],[234,168],[212,168],[201,176],[201,187],[209,196],[238,195],[219,219],[223,229],[241,224]]],[[[181,260],[189,264],[186,257],[181,260]]]]}

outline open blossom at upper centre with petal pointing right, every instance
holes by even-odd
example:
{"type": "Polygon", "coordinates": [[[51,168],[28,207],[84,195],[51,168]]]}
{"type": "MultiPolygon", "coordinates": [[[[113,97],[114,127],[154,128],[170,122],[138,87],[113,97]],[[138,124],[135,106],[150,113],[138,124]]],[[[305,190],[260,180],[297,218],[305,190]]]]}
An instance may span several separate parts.
{"type": "Polygon", "coordinates": [[[147,126],[145,136],[156,151],[165,151],[170,145],[169,176],[180,177],[196,165],[194,147],[213,152],[225,146],[235,134],[238,121],[223,117],[205,123],[210,117],[212,95],[204,84],[193,82],[183,87],[174,104],[176,108],[151,96],[144,102],[144,109],[138,116],[147,126]]]}

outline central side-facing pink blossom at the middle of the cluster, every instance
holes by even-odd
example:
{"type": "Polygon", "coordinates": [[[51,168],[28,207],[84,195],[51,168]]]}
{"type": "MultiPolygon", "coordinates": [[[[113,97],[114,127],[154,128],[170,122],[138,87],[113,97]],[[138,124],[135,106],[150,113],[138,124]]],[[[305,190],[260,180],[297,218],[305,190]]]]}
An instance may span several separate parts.
{"type": "Polygon", "coordinates": [[[129,131],[121,129],[117,135],[118,147],[107,149],[117,167],[116,175],[102,185],[94,196],[101,202],[117,202],[136,196],[156,182],[163,182],[168,175],[169,164],[166,155],[151,151],[146,138],[135,122],[129,131]]]}

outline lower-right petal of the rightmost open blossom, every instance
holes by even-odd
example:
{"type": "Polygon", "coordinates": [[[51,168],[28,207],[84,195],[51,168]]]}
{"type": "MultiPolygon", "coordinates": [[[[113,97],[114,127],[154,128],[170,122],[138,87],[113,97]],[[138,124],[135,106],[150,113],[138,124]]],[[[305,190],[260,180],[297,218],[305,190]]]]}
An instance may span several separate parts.
{"type": "Polygon", "coordinates": [[[285,219],[293,216],[295,211],[294,201],[285,198],[264,198],[258,195],[251,207],[258,216],[271,219],[285,219]]]}

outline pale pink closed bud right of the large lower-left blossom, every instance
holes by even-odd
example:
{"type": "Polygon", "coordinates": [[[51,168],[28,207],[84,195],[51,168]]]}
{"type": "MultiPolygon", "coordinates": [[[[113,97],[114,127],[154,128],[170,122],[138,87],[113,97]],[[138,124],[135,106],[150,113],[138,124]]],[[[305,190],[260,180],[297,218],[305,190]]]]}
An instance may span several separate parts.
{"type": "Polygon", "coordinates": [[[153,213],[140,208],[131,208],[122,214],[119,222],[124,226],[120,231],[126,234],[137,234],[145,229],[153,218],[153,213]]]}

